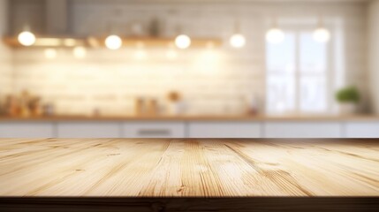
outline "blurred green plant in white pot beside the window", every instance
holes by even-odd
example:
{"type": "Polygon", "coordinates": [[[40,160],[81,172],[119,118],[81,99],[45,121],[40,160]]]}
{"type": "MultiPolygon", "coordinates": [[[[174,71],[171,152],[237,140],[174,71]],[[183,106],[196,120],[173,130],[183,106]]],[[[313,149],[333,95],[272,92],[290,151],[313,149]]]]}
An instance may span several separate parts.
{"type": "Polygon", "coordinates": [[[357,110],[358,102],[360,102],[360,92],[357,87],[343,87],[337,90],[336,99],[341,114],[353,114],[357,110]]]}

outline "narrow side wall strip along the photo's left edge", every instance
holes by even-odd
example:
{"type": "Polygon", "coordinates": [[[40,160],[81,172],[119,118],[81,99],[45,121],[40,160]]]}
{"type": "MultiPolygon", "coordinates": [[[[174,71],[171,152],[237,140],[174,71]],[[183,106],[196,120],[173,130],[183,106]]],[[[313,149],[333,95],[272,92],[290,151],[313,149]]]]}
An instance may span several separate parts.
{"type": "MultiPolygon", "coordinates": [[[[7,33],[8,9],[7,1],[0,0],[0,37],[7,33]]],[[[11,49],[0,41],[0,95],[11,93],[11,49]]]]}

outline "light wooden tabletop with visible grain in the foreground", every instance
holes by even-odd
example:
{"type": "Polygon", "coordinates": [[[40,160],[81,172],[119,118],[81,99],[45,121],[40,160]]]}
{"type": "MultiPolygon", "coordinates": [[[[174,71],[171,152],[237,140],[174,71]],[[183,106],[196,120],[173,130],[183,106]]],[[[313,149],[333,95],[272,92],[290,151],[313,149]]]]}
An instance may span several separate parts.
{"type": "Polygon", "coordinates": [[[379,140],[2,139],[1,196],[379,196],[379,140]]]}

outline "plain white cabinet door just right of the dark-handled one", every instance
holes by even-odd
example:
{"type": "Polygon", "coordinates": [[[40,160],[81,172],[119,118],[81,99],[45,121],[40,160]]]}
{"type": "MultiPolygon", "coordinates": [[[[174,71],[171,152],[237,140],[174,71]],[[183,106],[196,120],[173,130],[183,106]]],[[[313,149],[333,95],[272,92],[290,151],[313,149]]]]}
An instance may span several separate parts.
{"type": "Polygon", "coordinates": [[[260,138],[262,126],[256,122],[193,122],[190,138],[260,138]]]}

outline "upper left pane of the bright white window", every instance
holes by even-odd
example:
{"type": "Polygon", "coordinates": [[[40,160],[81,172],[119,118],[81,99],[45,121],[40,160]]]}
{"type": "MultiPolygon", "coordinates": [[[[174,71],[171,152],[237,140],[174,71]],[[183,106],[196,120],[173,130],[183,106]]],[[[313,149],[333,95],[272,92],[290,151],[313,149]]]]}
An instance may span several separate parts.
{"type": "Polygon", "coordinates": [[[281,43],[266,44],[266,65],[269,72],[295,72],[295,34],[286,33],[281,43]]]}

